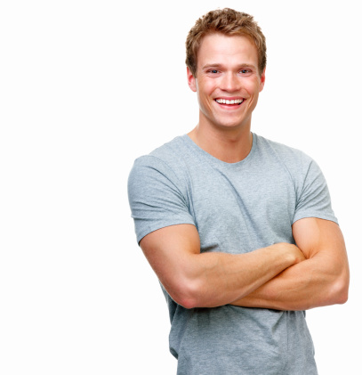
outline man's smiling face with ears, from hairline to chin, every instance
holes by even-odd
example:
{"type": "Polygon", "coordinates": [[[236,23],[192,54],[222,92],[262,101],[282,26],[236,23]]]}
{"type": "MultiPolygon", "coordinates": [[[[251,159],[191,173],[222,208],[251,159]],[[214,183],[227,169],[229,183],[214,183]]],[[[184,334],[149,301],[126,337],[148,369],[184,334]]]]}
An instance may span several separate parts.
{"type": "Polygon", "coordinates": [[[256,47],[247,37],[206,35],[197,53],[196,76],[188,69],[189,87],[197,92],[199,126],[250,129],[265,72],[260,75],[256,47]]]}

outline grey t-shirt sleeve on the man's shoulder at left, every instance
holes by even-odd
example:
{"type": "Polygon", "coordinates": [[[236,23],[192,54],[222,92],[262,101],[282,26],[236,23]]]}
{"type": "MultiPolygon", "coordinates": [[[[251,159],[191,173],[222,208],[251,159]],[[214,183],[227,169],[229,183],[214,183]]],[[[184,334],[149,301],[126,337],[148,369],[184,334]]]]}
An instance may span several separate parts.
{"type": "Polygon", "coordinates": [[[150,232],[176,224],[194,224],[187,190],[161,159],[136,159],[128,178],[128,199],[137,241],[150,232]]]}

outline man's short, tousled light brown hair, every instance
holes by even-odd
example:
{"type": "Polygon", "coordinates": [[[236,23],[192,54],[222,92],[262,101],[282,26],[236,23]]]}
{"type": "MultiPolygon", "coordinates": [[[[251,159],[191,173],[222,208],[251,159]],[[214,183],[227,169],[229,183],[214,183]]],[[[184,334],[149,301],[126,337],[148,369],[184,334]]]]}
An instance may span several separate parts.
{"type": "Polygon", "coordinates": [[[197,52],[201,41],[206,35],[212,33],[248,37],[258,52],[259,73],[263,72],[267,65],[267,45],[261,28],[253,20],[253,16],[224,8],[206,13],[189,30],[186,39],[186,65],[194,77],[197,72],[197,52]]]}

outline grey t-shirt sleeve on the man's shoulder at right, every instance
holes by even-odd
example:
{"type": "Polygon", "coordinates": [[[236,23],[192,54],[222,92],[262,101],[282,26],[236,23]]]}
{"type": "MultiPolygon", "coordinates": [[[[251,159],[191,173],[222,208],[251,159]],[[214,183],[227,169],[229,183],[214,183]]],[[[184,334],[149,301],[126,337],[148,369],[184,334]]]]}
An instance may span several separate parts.
{"type": "Polygon", "coordinates": [[[304,163],[302,188],[297,191],[297,201],[293,223],[304,217],[317,217],[334,221],[337,218],[331,205],[331,198],[325,176],[313,159],[304,163]]]}

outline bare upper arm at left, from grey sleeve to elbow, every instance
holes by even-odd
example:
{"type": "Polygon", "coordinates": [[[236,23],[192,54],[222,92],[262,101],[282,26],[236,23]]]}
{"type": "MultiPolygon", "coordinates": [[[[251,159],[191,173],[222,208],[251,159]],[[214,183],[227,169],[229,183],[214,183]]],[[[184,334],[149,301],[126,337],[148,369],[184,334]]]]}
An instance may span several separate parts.
{"type": "Polygon", "coordinates": [[[192,224],[166,226],[143,237],[140,246],[159,281],[177,302],[187,289],[192,257],[200,253],[196,227],[192,224]]]}

